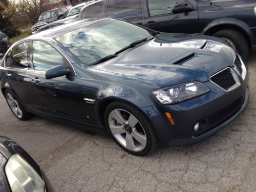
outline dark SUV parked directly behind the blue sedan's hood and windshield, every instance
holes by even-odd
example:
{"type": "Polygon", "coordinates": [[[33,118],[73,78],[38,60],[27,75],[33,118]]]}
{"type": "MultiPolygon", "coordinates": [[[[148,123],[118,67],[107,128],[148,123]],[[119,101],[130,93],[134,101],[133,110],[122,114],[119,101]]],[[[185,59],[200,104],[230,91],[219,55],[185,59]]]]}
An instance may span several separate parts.
{"type": "Polygon", "coordinates": [[[106,0],[80,11],[79,19],[115,17],[172,33],[225,38],[243,58],[256,50],[255,0],[106,0]]]}

